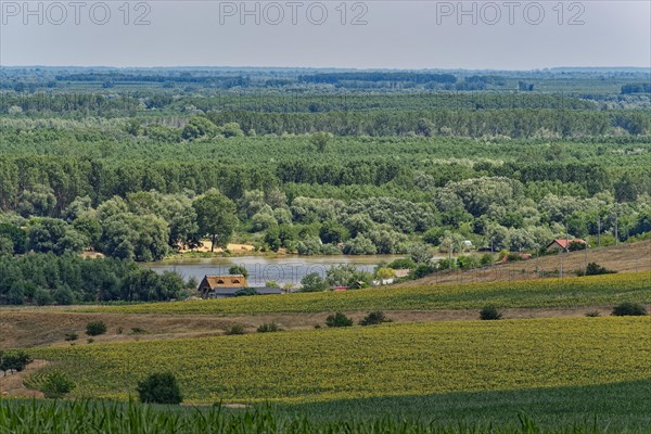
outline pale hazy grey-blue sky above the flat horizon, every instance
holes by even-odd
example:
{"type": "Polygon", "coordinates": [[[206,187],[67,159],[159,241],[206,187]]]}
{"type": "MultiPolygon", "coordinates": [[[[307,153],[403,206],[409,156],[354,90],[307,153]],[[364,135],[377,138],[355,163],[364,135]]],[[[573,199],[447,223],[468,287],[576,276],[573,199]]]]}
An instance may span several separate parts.
{"type": "Polygon", "coordinates": [[[649,0],[62,0],[27,9],[0,0],[2,65],[651,67],[649,0]]]}

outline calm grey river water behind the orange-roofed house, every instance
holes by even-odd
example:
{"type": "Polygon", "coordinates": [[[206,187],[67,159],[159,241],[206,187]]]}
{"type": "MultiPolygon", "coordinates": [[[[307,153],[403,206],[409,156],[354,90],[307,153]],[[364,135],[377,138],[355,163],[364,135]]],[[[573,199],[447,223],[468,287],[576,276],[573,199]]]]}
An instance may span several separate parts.
{"type": "Polygon", "coordinates": [[[144,264],[143,267],[162,273],[176,271],[184,279],[191,277],[201,281],[204,276],[228,275],[233,265],[243,266],[248,270],[250,286],[265,286],[268,281],[276,281],[281,286],[285,283],[298,284],[301,279],[310,272],[326,277],[326,271],[332,266],[352,264],[357,269],[373,272],[382,261],[390,263],[404,256],[394,255],[332,255],[332,256],[286,256],[267,258],[260,256],[238,256],[230,258],[183,258],[166,259],[144,264]]]}

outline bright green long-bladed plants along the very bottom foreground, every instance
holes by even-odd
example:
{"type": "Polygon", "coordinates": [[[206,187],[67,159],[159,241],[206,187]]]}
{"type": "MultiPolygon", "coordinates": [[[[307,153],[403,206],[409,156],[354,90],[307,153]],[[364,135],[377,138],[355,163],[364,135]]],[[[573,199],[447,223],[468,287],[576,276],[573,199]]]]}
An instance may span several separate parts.
{"type": "MultiPolygon", "coordinates": [[[[380,418],[347,418],[315,421],[299,413],[288,414],[261,407],[229,411],[222,407],[179,409],[164,406],[108,401],[23,401],[0,399],[0,432],[12,434],[130,433],[130,434],[332,434],[332,433],[412,433],[412,434],[601,434],[607,425],[599,421],[556,423],[541,427],[535,418],[520,413],[509,421],[462,420],[442,423],[405,419],[387,412],[380,418]]],[[[612,430],[609,433],[624,432],[612,430]]],[[[631,431],[629,431],[631,432],[631,431]]],[[[642,431],[640,431],[642,432],[642,431]]]]}

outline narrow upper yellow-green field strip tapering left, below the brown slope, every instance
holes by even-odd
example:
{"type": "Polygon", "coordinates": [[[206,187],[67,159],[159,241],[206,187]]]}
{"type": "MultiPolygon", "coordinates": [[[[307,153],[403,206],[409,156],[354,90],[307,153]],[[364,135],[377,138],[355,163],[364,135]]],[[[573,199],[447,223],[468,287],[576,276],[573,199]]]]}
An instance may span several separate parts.
{"type": "Polygon", "coordinates": [[[437,310],[604,306],[651,303],[651,273],[516,282],[372,288],[347,292],[105,306],[79,311],[118,314],[264,314],[353,310],[437,310]]]}

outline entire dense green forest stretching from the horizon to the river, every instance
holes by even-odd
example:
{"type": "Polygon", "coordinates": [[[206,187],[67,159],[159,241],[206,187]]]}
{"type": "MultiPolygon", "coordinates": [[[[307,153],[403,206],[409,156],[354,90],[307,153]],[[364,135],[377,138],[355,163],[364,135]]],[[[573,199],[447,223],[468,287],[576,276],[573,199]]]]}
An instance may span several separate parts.
{"type": "Polygon", "coordinates": [[[133,261],[202,240],[426,263],[651,232],[639,72],[2,74],[0,304],[176,298],[133,261]]]}

